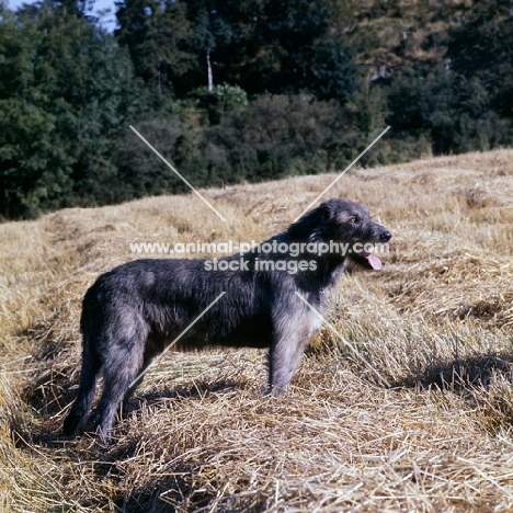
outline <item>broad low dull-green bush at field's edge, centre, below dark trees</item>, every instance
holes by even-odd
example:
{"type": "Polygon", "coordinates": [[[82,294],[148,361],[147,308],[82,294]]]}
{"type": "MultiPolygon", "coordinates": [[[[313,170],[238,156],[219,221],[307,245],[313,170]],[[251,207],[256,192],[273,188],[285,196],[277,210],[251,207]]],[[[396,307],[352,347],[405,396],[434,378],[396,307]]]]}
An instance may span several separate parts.
{"type": "Polygon", "coordinates": [[[346,166],[368,144],[350,123],[351,113],[334,101],[263,95],[227,115],[206,137],[229,164],[225,183],[261,181],[346,166]]]}

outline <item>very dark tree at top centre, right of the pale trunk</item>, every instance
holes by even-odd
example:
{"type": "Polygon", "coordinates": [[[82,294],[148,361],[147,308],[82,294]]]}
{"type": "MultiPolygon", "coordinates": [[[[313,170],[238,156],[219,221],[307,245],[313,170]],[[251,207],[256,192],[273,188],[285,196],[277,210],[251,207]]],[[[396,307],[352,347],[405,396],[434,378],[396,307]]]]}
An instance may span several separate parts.
{"type": "Polygon", "coordinates": [[[262,2],[240,86],[249,93],[309,92],[344,102],[358,78],[343,35],[331,30],[334,15],[328,0],[262,2]]]}

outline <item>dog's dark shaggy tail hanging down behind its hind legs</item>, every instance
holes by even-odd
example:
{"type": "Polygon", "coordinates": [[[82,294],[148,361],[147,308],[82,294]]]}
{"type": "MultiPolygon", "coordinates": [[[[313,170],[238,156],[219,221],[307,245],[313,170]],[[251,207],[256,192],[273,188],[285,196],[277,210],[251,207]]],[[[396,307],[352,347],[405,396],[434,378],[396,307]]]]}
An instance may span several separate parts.
{"type": "Polygon", "coordinates": [[[96,379],[101,368],[102,364],[94,349],[94,342],[84,333],[79,391],[71,411],[64,422],[65,435],[76,435],[86,420],[94,399],[96,379]]]}

